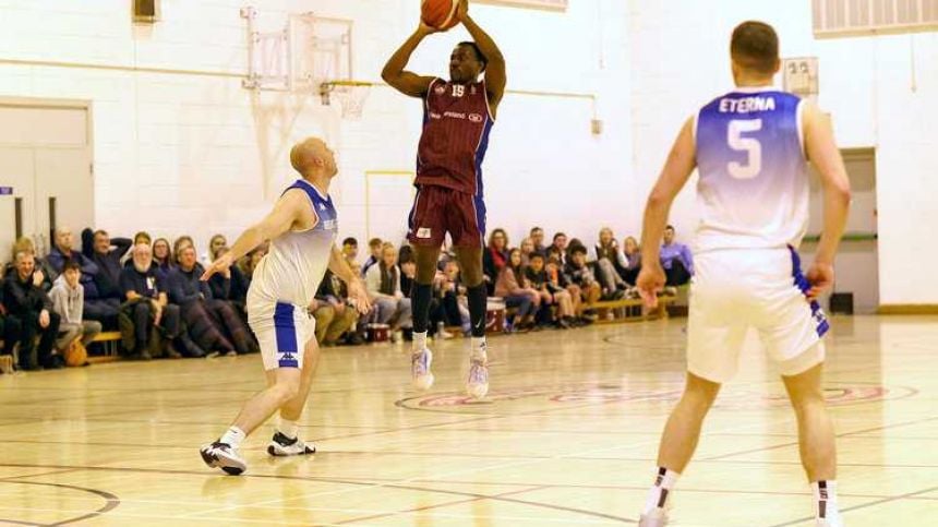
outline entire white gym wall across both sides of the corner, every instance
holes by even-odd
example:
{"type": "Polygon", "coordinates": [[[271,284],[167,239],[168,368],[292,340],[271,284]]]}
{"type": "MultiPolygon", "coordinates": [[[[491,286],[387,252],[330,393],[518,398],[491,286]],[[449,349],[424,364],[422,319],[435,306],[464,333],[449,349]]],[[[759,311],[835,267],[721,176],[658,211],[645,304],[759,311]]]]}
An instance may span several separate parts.
{"type": "MultiPolygon", "coordinates": [[[[239,9],[253,3],[265,29],[288,12],[354,20],[356,76],[376,81],[418,0],[163,0],[152,26],[131,24],[131,3],[0,0],[0,96],[92,101],[96,227],[201,244],[233,236],[292,178],[292,142],[325,134],[339,148],[341,233],[365,236],[364,172],[412,169],[420,104],[375,88],[364,118],[347,122],[314,98],[243,89],[239,9]]],[[[938,303],[938,247],[924,233],[938,220],[935,33],[816,40],[808,0],[569,3],[566,13],[472,8],[505,52],[509,88],[596,94],[604,121],[593,136],[588,100],[506,96],[485,164],[490,228],[515,242],[534,224],[587,242],[602,225],[637,233],[681,122],[731,86],[730,31],[760,19],[779,29],[784,56],[820,58],[820,104],[841,144],[877,148],[881,302],[938,303]]],[[[412,68],[445,73],[464,37],[431,37],[412,68]]],[[[673,215],[685,236],[690,197],[673,215]]]]}

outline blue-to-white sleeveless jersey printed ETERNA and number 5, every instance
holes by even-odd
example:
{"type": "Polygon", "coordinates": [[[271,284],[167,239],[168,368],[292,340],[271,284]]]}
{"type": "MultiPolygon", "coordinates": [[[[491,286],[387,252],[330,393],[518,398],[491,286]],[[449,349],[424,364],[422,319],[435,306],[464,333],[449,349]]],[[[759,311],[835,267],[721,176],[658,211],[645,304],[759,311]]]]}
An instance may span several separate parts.
{"type": "Polygon", "coordinates": [[[697,252],[801,244],[810,192],[802,106],[792,94],[741,89],[700,110],[697,252]]]}

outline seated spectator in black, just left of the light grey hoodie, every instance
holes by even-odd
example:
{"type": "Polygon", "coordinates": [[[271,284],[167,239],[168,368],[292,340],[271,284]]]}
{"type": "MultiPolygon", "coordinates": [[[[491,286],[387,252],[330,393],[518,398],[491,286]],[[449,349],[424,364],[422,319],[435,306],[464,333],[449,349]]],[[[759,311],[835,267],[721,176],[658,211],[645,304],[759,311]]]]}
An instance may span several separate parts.
{"type": "Polygon", "coordinates": [[[43,277],[34,273],[36,260],[28,252],[21,251],[14,262],[16,274],[3,280],[3,302],[9,316],[15,319],[21,327],[20,369],[64,368],[64,359],[53,352],[59,336],[59,314],[52,310],[52,300],[43,290],[43,277]]]}

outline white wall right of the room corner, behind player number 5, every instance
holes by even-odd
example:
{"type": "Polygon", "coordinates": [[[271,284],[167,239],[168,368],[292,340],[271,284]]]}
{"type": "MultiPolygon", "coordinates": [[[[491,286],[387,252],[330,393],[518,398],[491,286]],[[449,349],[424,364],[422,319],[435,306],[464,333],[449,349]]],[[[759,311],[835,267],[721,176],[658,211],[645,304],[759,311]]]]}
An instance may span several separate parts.
{"type": "MultiPolygon", "coordinates": [[[[880,302],[938,303],[938,245],[927,241],[938,223],[938,133],[929,128],[938,122],[938,34],[818,40],[808,0],[629,4],[637,191],[650,188],[683,120],[732,87],[733,27],[762,20],[779,32],[783,57],[819,58],[819,105],[841,147],[876,147],[880,302]]],[[[696,223],[693,192],[672,214],[686,235],[696,223]]]]}

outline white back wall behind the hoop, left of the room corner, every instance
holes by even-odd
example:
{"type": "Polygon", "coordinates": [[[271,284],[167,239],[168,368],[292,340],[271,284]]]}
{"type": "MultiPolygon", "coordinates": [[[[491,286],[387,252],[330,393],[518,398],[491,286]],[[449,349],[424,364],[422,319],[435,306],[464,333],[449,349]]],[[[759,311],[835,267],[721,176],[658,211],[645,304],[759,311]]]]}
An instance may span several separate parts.
{"type": "MultiPolygon", "coordinates": [[[[252,2],[164,0],[152,26],[131,24],[131,3],[0,1],[0,94],[93,101],[97,227],[201,243],[233,236],[293,177],[292,142],[324,134],[339,151],[341,233],[365,236],[364,172],[412,170],[419,101],[378,87],[364,118],[348,122],[315,97],[254,94],[240,79],[239,9],[252,2]]],[[[371,81],[419,13],[417,0],[253,4],[265,31],[288,12],[354,20],[356,77],[371,81]]],[[[605,124],[590,133],[589,100],[507,95],[485,164],[491,226],[515,239],[534,223],[589,239],[601,224],[635,225],[625,11],[616,0],[574,0],[566,13],[473,5],[505,52],[509,88],[598,94],[605,124]]],[[[461,28],[431,37],[411,67],[445,74],[462,38],[461,28]]]]}

